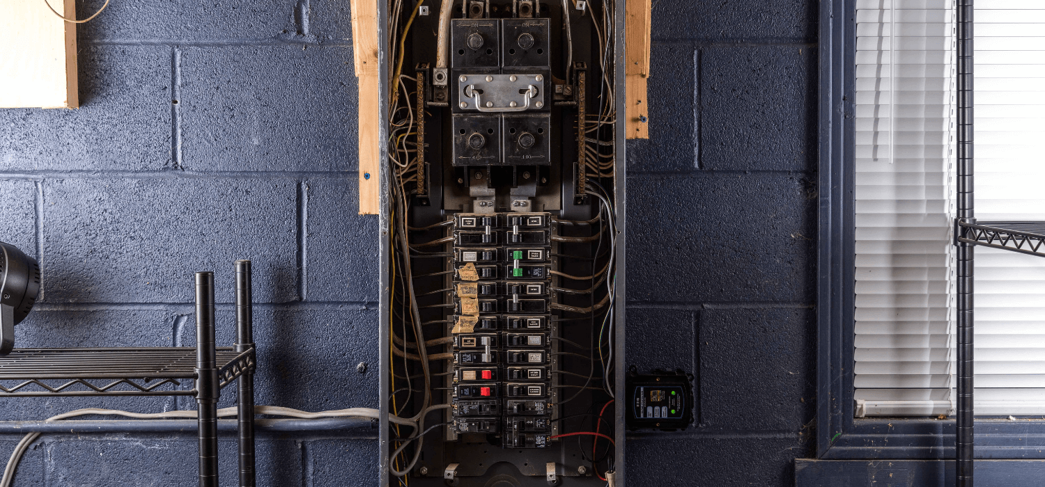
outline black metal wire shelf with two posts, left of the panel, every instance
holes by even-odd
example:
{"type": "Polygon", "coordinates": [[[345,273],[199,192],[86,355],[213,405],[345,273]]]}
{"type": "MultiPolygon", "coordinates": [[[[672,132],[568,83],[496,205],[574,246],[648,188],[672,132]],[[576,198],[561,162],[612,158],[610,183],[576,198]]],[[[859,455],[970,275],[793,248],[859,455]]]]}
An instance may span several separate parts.
{"type": "Polygon", "coordinates": [[[254,370],[251,262],[236,261],[236,342],[215,342],[214,273],[195,274],[194,347],[20,348],[0,357],[0,397],[194,396],[200,487],[217,487],[217,401],[237,387],[239,486],[254,487],[254,370]],[[181,381],[193,381],[191,390],[181,381]]]}

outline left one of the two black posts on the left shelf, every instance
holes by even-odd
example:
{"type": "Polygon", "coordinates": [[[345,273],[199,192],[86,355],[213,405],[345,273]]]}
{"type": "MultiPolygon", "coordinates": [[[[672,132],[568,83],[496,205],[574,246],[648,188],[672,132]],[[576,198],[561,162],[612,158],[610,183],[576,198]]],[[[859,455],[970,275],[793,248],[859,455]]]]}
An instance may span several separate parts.
{"type": "Polygon", "coordinates": [[[196,272],[196,408],[200,487],[217,487],[217,361],[214,349],[214,273],[196,272]]]}

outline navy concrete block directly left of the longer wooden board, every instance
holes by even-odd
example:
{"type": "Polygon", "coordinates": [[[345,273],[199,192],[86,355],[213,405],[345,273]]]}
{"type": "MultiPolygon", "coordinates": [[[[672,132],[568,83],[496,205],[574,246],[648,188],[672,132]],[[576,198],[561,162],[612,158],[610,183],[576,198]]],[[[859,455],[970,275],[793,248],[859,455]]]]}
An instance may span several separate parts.
{"type": "Polygon", "coordinates": [[[186,48],[181,73],[185,169],[356,169],[357,90],[350,49],[186,48]]]}

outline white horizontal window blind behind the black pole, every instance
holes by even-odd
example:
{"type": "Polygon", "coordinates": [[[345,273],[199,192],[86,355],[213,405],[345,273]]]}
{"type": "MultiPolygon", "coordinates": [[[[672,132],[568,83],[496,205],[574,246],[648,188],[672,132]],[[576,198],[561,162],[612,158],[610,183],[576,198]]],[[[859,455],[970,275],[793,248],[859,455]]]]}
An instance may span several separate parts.
{"type": "MultiPolygon", "coordinates": [[[[856,414],[952,414],[953,0],[857,8],[856,414]]],[[[1045,2],[975,20],[977,217],[1045,220],[1045,2]]],[[[976,412],[1045,414],[1045,260],[975,266],[976,412]]]]}

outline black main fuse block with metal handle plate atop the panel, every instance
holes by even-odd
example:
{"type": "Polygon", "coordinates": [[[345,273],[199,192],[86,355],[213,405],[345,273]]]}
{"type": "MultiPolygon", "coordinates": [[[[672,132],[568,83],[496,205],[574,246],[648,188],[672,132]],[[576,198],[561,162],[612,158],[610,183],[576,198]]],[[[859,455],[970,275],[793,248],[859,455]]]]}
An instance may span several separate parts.
{"type": "Polygon", "coordinates": [[[549,26],[549,19],[452,21],[455,166],[552,164],[549,26]]]}

